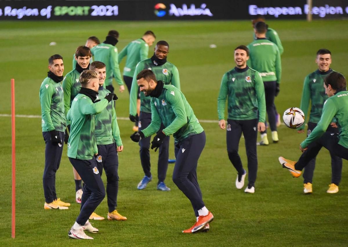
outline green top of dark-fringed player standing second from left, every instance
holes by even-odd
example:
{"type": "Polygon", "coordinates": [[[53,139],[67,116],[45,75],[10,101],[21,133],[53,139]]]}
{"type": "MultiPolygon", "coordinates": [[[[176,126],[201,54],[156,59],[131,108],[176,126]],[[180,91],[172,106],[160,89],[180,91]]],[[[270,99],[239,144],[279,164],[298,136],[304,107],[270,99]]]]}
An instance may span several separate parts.
{"type": "MultiPolygon", "coordinates": [[[[76,69],[71,70],[63,79],[64,90],[64,112],[65,116],[71,107],[72,100],[80,92],[81,83],[79,82],[80,72],[76,69]]],[[[69,125],[69,121],[67,122],[69,125]]]]}

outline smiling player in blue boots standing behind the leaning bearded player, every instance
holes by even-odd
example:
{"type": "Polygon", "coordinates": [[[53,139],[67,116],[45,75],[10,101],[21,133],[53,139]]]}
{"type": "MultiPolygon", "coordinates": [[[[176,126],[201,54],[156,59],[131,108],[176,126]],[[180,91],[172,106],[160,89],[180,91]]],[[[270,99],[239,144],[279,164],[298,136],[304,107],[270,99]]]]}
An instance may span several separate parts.
{"type": "MultiPolygon", "coordinates": [[[[135,68],[132,88],[130,90],[130,104],[129,104],[129,119],[132,122],[137,120],[136,112],[136,99],[138,92],[138,84],[136,76],[143,70],[151,70],[158,80],[161,80],[165,85],[172,84],[180,90],[180,78],[179,71],[174,64],[167,61],[167,55],[169,53],[169,44],[160,40],[155,47],[155,53],[150,59],[140,61],[135,68]]],[[[141,91],[141,89],[140,89],[141,91]]],[[[146,97],[143,93],[140,93],[140,116],[139,116],[139,130],[147,128],[151,122],[151,105],[150,98],[146,97]]],[[[162,131],[164,126],[161,126],[159,131],[162,131]]],[[[151,136],[143,138],[139,142],[140,146],[140,161],[145,173],[144,178],[138,184],[138,189],[143,190],[148,183],[152,180],[150,171],[150,141],[151,136]]],[[[158,154],[158,183],[157,189],[161,191],[169,191],[170,189],[165,185],[164,180],[166,178],[168,168],[169,157],[169,136],[165,137],[163,144],[159,148],[158,154]]]]}

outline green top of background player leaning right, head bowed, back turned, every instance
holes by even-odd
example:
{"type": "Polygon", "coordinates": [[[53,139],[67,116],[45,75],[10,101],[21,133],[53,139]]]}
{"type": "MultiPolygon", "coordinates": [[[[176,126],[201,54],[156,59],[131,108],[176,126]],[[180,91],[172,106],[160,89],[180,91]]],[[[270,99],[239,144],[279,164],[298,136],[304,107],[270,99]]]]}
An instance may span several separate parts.
{"type": "Polygon", "coordinates": [[[149,45],[143,39],[137,39],[130,42],[123,50],[118,54],[118,63],[127,56],[126,65],[123,69],[123,75],[128,77],[134,76],[134,70],[136,65],[148,58],[149,45]]]}

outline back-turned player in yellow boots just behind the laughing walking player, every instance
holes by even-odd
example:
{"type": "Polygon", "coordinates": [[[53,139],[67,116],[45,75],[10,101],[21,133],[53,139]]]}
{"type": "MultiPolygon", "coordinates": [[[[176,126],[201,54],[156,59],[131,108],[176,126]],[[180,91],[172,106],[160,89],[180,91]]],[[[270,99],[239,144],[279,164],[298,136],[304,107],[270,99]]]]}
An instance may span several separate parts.
{"type": "MultiPolygon", "coordinates": [[[[250,51],[250,58],[247,64],[250,68],[260,72],[264,85],[266,98],[266,110],[268,122],[272,131],[274,143],[279,141],[277,132],[277,121],[274,105],[274,97],[279,92],[280,77],[282,75],[282,63],[277,45],[266,39],[267,25],[264,22],[255,24],[256,40],[247,47],[250,51]]],[[[261,141],[258,145],[268,145],[267,132],[261,132],[261,141]]]]}

